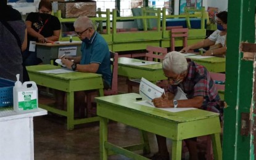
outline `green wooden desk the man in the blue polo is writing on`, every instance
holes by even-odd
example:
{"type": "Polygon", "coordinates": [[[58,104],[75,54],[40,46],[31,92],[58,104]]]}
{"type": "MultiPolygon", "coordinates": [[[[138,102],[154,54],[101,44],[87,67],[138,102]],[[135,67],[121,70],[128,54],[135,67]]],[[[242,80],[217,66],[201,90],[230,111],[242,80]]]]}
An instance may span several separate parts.
{"type": "Polygon", "coordinates": [[[99,95],[103,96],[103,82],[101,74],[95,73],[63,73],[63,74],[47,74],[39,71],[54,70],[60,68],[54,65],[36,65],[27,66],[28,74],[31,81],[35,81],[40,86],[67,92],[67,111],[58,110],[52,106],[39,104],[43,108],[52,113],[57,113],[67,117],[67,129],[72,130],[75,124],[83,124],[86,122],[99,121],[98,117],[74,119],[74,92],[80,90],[98,89],[99,95]]]}

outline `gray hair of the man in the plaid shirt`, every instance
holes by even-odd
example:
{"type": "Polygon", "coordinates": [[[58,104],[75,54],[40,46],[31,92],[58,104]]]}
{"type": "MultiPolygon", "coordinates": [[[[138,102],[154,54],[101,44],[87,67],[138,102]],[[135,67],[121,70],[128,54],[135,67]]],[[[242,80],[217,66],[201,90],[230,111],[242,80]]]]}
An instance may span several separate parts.
{"type": "Polygon", "coordinates": [[[183,54],[172,51],[163,58],[163,69],[171,70],[176,74],[180,74],[188,70],[188,63],[183,54]]]}

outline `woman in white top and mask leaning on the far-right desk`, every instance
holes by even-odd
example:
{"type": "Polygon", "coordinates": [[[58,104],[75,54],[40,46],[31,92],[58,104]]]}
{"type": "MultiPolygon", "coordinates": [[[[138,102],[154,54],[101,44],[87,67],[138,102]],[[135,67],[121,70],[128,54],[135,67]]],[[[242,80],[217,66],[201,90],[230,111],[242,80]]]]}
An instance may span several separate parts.
{"type": "Polygon", "coordinates": [[[225,57],[226,54],[226,33],[227,33],[227,23],[228,23],[228,12],[223,11],[216,14],[217,19],[217,30],[214,31],[209,38],[204,39],[203,41],[197,42],[190,46],[186,46],[181,51],[189,52],[192,49],[200,49],[203,47],[210,47],[204,54],[215,55],[218,57],[225,57]],[[212,49],[211,49],[212,46],[212,49]]]}

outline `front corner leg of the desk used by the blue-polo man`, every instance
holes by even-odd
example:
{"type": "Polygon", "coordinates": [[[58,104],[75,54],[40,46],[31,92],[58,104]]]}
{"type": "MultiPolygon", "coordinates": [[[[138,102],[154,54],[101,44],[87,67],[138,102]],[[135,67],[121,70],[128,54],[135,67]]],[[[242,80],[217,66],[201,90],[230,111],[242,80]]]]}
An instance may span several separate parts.
{"type": "Polygon", "coordinates": [[[67,129],[74,129],[74,92],[67,92],[67,129]]]}

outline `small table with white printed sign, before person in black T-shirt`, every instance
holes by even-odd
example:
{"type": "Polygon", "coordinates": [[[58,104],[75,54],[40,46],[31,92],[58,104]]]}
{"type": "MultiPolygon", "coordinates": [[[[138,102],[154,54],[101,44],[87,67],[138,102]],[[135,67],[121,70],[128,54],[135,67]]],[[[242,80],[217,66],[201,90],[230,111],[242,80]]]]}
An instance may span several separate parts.
{"type": "Polygon", "coordinates": [[[81,55],[81,43],[72,42],[65,44],[46,44],[35,42],[37,57],[43,61],[43,64],[51,64],[51,60],[58,58],[59,48],[76,47],[76,55],[81,55]]]}

